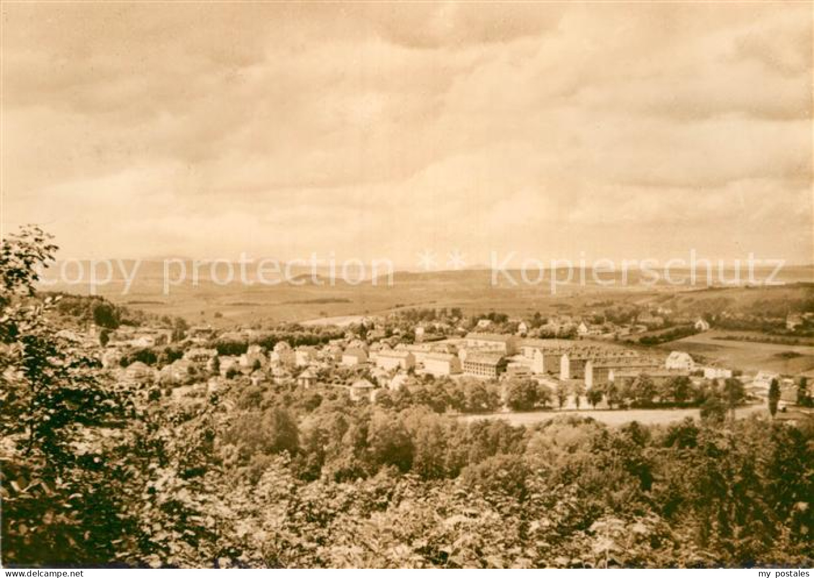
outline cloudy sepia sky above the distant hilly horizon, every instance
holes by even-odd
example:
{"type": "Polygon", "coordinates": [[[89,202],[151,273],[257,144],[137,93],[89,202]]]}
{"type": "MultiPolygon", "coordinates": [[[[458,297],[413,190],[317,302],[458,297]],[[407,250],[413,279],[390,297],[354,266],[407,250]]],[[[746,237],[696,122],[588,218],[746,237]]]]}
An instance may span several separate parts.
{"type": "Polygon", "coordinates": [[[812,261],[808,4],[2,5],[63,257],[812,261]]]}

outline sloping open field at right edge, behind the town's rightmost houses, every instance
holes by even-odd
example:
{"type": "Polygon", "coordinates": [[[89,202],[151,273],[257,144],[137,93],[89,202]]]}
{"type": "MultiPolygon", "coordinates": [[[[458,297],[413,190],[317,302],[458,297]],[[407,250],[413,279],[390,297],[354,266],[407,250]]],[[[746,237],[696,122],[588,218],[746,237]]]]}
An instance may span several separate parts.
{"type": "Polygon", "coordinates": [[[678,339],[659,348],[684,351],[707,362],[744,371],[772,370],[781,374],[800,374],[814,369],[814,347],[810,345],[780,345],[752,341],[716,339],[732,331],[707,331],[678,339]],[[796,357],[786,356],[794,353],[796,357]]]}

